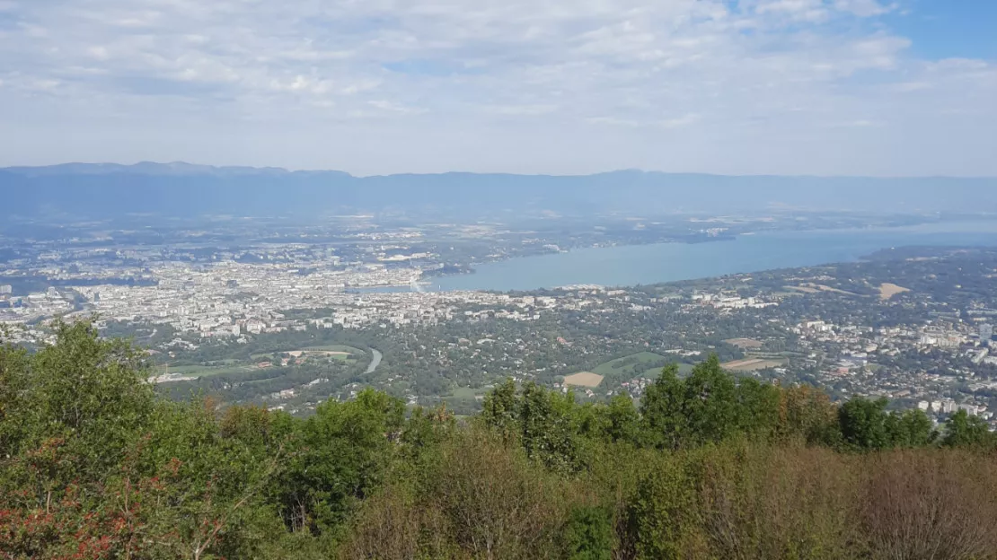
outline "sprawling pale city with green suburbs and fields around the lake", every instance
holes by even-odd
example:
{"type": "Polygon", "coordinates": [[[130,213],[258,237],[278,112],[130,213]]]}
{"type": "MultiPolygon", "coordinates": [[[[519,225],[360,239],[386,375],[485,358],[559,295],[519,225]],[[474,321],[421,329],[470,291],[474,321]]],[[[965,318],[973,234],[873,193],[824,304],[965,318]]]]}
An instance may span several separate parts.
{"type": "MultiPolygon", "coordinates": [[[[661,227],[716,238],[732,224],[773,221],[661,227]]],[[[901,248],[639,287],[438,291],[435,276],[476,262],[593,240],[570,229],[545,238],[351,223],[335,240],[283,232],[238,248],[184,245],[178,238],[217,235],[188,231],[169,233],[168,244],[12,245],[0,265],[0,321],[7,340],[37,346],[52,340],[53,318],[96,319],[105,334],[148,348],[150,379],[167,395],[202,392],[300,415],[365,388],[471,414],[505,378],[583,401],[639,399],[662,367],[686,373],[716,354],[735,374],[813,384],[835,399],[886,397],[936,421],[958,411],[997,421],[995,250],[901,248]]]]}

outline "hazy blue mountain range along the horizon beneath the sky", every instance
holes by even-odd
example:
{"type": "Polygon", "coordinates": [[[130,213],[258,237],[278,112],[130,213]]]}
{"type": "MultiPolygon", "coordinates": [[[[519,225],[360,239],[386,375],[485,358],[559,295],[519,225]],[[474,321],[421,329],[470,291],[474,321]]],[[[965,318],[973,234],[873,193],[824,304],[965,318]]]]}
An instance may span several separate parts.
{"type": "Polygon", "coordinates": [[[0,169],[0,218],[126,214],[321,216],[343,212],[498,215],[553,211],[997,212],[997,178],[711,175],[625,170],[356,177],[342,171],[190,163],[66,163],[0,169]]]}

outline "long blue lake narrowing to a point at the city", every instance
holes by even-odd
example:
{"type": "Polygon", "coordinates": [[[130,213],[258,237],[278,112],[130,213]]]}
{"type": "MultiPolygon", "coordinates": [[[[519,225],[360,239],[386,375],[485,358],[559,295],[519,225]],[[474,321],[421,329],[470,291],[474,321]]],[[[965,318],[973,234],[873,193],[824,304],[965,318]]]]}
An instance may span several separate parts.
{"type": "Polygon", "coordinates": [[[909,245],[997,246],[997,222],[901,228],[780,231],[733,241],[578,249],[476,266],[474,274],[430,280],[432,290],[534,290],[572,284],[633,286],[854,261],[909,245]]]}

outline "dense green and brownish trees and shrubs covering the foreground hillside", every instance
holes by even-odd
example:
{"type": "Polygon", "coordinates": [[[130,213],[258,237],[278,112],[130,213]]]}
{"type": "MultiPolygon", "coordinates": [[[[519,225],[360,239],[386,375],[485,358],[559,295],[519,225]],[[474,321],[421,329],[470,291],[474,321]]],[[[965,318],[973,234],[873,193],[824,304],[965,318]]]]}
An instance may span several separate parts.
{"type": "Polygon", "coordinates": [[[307,419],[158,400],[146,355],[62,326],[0,347],[0,555],[997,558],[997,440],[885,400],[666,368],[639,407],[498,386],[307,419]]]}

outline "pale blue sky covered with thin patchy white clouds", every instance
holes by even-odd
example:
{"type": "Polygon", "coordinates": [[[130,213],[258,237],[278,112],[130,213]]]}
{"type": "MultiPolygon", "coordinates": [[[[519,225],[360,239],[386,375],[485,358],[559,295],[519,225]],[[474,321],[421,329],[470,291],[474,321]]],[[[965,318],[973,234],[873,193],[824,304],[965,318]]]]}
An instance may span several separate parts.
{"type": "Polygon", "coordinates": [[[0,0],[0,165],[997,175],[997,0],[0,0]]]}

